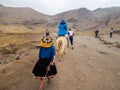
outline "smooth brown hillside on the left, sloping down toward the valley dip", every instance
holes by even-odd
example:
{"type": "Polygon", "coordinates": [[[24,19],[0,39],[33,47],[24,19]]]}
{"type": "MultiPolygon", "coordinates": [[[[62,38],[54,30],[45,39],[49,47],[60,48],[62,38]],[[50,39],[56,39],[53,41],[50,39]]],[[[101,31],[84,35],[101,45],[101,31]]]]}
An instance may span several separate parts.
{"type": "MultiPolygon", "coordinates": [[[[2,22],[16,22],[25,20],[45,19],[47,15],[39,13],[31,8],[0,7],[0,16],[2,22]]],[[[1,23],[2,23],[1,22],[1,23]]]]}

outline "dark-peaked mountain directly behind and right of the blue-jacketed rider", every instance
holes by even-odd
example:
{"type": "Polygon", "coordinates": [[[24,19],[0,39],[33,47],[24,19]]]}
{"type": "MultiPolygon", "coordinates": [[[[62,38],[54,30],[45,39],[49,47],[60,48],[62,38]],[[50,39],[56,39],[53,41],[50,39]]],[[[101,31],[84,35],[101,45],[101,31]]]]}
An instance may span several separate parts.
{"type": "Polygon", "coordinates": [[[94,13],[86,8],[63,12],[53,16],[53,18],[55,21],[64,18],[68,22],[69,27],[77,30],[95,27],[98,21],[94,13]]]}

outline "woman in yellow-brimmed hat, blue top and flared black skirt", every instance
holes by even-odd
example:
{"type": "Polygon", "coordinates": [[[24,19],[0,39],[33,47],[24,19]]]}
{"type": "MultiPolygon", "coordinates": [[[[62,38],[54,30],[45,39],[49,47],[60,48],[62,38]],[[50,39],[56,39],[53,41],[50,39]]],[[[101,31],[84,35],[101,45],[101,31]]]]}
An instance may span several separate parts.
{"type": "Polygon", "coordinates": [[[40,39],[39,59],[36,62],[32,73],[40,79],[40,89],[43,89],[44,80],[48,80],[57,74],[55,66],[55,47],[53,39],[45,35],[40,39]]]}

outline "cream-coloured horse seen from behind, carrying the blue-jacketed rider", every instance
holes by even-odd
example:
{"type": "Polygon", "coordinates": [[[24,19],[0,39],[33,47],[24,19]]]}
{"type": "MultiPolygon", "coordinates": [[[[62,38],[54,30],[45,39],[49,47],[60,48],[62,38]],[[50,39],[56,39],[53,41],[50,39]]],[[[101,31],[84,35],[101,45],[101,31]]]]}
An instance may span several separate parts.
{"type": "Polygon", "coordinates": [[[67,39],[65,36],[60,36],[56,40],[56,49],[59,61],[61,61],[62,56],[66,53],[67,39]]]}

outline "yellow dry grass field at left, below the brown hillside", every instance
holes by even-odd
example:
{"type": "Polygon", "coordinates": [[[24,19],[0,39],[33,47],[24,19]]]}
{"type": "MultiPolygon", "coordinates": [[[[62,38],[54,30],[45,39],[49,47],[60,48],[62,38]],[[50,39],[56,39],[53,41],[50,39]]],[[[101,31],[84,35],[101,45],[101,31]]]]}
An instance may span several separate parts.
{"type": "Polygon", "coordinates": [[[40,26],[0,25],[0,47],[29,42],[45,31],[46,29],[40,26]]]}

